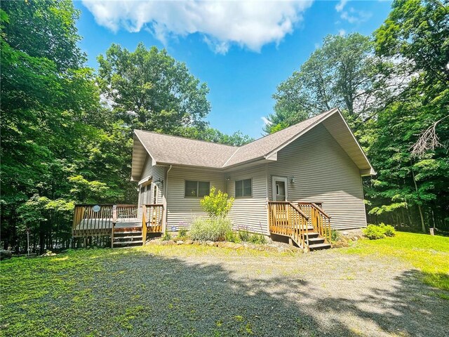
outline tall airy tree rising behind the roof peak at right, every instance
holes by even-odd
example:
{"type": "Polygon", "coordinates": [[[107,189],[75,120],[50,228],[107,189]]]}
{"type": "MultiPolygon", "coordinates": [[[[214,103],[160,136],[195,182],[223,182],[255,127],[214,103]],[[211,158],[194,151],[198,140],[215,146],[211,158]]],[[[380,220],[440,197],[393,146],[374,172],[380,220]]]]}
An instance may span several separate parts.
{"type": "Polygon", "coordinates": [[[277,88],[266,133],[340,107],[351,119],[377,110],[390,94],[393,65],[377,58],[369,37],[329,35],[298,72],[277,88]],[[388,71],[386,71],[388,70],[388,71]]]}

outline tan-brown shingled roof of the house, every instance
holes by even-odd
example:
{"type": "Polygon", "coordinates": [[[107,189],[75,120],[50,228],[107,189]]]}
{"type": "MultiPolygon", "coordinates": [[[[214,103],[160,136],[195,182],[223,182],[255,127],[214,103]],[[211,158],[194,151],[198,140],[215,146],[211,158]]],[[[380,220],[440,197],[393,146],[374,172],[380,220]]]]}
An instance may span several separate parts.
{"type": "MultiPolygon", "coordinates": [[[[202,140],[192,140],[177,136],[168,136],[161,133],[142,130],[134,131],[135,144],[136,142],[140,143],[141,145],[139,144],[138,146],[140,146],[140,148],[145,148],[146,152],[152,157],[153,164],[227,169],[231,166],[244,164],[248,161],[269,157],[271,154],[281,150],[283,146],[286,146],[292,140],[309,131],[309,129],[313,128],[316,124],[319,124],[321,121],[324,121],[335,113],[340,114],[338,109],[328,110],[298,124],[284,128],[281,131],[254,140],[241,147],[209,143],[202,140]]],[[[349,130],[349,133],[350,132],[351,131],[349,130]]],[[[356,140],[355,143],[360,147],[356,140]]],[[[140,156],[142,156],[142,150],[140,150],[140,156]]],[[[138,155],[138,151],[139,149],[136,150],[135,145],[135,150],[133,150],[133,166],[135,164],[134,157],[135,154],[136,156],[138,155]]],[[[361,148],[360,151],[363,153],[361,148]]],[[[363,157],[366,158],[365,154],[363,154],[363,157]]],[[[368,162],[368,159],[366,159],[366,161],[368,162]]],[[[369,162],[368,166],[370,167],[369,162]]],[[[134,171],[133,173],[137,174],[137,171],[134,171]]]]}

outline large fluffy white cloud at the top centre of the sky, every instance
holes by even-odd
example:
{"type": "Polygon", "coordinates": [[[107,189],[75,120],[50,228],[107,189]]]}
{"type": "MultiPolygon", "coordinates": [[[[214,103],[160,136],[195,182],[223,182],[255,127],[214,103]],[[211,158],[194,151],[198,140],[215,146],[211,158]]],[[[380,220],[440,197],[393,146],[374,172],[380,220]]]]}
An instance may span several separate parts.
{"type": "Polygon", "coordinates": [[[293,32],[313,0],[135,1],[83,0],[95,21],[113,32],[145,29],[164,44],[170,37],[204,35],[217,53],[232,44],[260,51],[293,32]]]}

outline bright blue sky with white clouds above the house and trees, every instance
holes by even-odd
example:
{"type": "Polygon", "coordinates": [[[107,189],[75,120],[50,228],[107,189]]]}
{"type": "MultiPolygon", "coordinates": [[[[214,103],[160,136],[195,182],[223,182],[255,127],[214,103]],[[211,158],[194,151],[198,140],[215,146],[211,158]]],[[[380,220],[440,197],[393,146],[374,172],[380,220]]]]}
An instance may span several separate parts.
{"type": "Polygon", "coordinates": [[[210,126],[262,134],[276,86],[327,34],[372,34],[390,1],[75,1],[88,65],[112,43],[166,48],[208,84],[210,126]]]}

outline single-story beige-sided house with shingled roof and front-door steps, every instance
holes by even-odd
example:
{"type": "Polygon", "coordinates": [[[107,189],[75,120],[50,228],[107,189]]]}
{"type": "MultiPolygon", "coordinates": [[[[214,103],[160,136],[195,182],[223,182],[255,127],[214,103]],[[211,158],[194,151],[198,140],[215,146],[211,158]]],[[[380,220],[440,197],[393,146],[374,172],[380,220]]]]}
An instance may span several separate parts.
{"type": "Polygon", "coordinates": [[[235,198],[234,227],[300,246],[327,244],[330,227],[366,227],[361,177],[375,174],[338,109],[241,147],[135,130],[131,170],[134,217],[150,232],[206,216],[200,200],[215,186],[235,198]]]}

